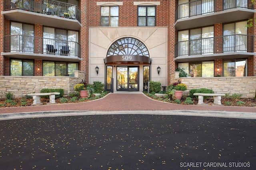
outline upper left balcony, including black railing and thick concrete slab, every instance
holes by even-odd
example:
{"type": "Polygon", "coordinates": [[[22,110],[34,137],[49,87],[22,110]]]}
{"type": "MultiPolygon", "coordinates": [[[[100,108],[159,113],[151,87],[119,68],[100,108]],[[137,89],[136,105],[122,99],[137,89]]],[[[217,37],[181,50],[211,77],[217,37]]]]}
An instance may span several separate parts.
{"type": "Polygon", "coordinates": [[[78,6],[55,0],[5,0],[2,14],[6,19],[24,23],[80,30],[78,6]]]}

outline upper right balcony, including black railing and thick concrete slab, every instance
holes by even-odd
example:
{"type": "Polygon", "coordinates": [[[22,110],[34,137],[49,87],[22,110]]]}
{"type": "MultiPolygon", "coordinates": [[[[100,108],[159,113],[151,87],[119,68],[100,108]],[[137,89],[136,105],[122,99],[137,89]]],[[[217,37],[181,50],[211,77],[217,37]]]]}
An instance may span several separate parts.
{"type": "Polygon", "coordinates": [[[251,18],[255,12],[249,0],[224,0],[222,8],[216,0],[196,0],[179,4],[175,10],[176,29],[188,29],[251,18]]]}

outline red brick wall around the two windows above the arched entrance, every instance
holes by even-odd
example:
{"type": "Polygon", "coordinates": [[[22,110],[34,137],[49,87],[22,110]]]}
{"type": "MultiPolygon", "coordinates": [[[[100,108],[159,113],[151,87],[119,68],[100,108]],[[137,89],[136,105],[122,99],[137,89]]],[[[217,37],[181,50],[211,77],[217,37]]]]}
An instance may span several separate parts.
{"type": "MultiPolygon", "coordinates": [[[[155,0],[123,0],[123,5],[119,6],[119,26],[137,26],[138,6],[134,5],[136,1],[155,1],[155,0]]],[[[159,0],[160,5],[156,6],[156,26],[167,26],[167,2],[159,0]]],[[[100,6],[96,2],[113,2],[113,0],[95,0],[90,1],[90,26],[100,27],[100,6]]],[[[175,14],[175,13],[174,13],[175,14]]]]}

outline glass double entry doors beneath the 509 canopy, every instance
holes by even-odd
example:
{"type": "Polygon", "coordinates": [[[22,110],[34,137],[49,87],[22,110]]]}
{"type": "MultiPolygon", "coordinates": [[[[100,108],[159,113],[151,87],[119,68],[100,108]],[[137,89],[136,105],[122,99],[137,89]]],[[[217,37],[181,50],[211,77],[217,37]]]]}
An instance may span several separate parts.
{"type": "Polygon", "coordinates": [[[117,66],[116,75],[118,91],[139,91],[138,66],[117,66]]]}

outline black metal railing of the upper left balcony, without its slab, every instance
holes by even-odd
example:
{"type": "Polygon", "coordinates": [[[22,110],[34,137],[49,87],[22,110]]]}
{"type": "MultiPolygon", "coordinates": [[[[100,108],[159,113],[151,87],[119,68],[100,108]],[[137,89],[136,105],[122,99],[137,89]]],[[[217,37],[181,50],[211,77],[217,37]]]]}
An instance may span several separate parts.
{"type": "Polygon", "coordinates": [[[81,22],[81,12],[78,6],[55,0],[5,0],[4,11],[20,9],[40,14],[48,14],[70,18],[81,22]]]}

